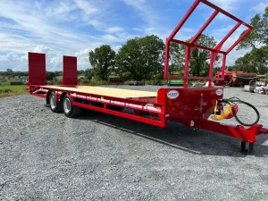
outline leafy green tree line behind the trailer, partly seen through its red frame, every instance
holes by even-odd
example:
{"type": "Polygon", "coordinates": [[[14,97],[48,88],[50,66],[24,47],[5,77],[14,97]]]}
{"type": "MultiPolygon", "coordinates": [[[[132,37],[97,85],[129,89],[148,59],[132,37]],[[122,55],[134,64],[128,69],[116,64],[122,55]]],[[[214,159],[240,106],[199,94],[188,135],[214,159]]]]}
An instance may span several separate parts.
{"type": "MultiPolygon", "coordinates": [[[[188,41],[191,38],[188,38],[188,41]]],[[[214,47],[214,38],[201,35],[199,45],[214,47]]],[[[118,75],[125,80],[158,80],[163,79],[165,45],[161,38],[150,35],[141,38],[131,38],[121,46],[118,53],[109,45],[102,45],[89,52],[89,63],[93,67],[90,71],[91,79],[107,80],[110,75],[118,75]]],[[[183,75],[185,46],[176,43],[170,48],[171,74],[183,75]]],[[[189,60],[189,74],[200,76],[208,73],[210,52],[195,49],[189,60]]],[[[219,60],[217,57],[216,61],[219,60]]],[[[89,73],[88,73],[89,75],[89,73]]]]}

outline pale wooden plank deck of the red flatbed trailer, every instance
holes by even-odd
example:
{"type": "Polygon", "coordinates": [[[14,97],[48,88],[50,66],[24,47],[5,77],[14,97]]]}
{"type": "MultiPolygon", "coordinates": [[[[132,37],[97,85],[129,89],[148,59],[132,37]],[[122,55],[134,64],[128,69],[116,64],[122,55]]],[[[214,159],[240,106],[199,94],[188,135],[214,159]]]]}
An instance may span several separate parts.
{"type": "Polygon", "coordinates": [[[53,85],[40,86],[41,88],[54,88],[65,91],[81,92],[87,94],[96,94],[99,96],[113,96],[121,98],[140,98],[140,97],[156,97],[157,92],[139,91],[122,88],[101,88],[101,87],[89,87],[89,86],[77,86],[77,87],[60,87],[53,85]]]}

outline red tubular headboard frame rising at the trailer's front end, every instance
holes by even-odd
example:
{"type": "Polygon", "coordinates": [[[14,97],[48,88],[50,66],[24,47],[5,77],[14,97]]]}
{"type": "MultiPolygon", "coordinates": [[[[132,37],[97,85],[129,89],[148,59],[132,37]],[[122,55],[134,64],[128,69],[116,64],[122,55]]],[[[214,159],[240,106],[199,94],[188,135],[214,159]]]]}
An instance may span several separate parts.
{"type": "Polygon", "coordinates": [[[225,63],[226,63],[226,57],[227,54],[230,53],[230,51],[239,44],[239,42],[247,37],[247,34],[253,29],[253,27],[249,24],[247,24],[245,21],[241,21],[239,18],[233,16],[232,14],[222,10],[222,8],[216,6],[215,4],[210,3],[207,0],[196,0],[194,4],[189,8],[188,12],[184,15],[182,20],[179,22],[177,27],[172,31],[171,35],[166,38],[166,46],[165,46],[165,61],[164,61],[164,78],[165,79],[184,79],[184,88],[187,88],[187,80],[209,80],[208,87],[212,86],[212,81],[213,80],[224,80],[224,71],[225,71],[225,63]],[[183,24],[188,20],[188,17],[195,11],[197,8],[198,4],[203,3],[206,4],[207,6],[211,7],[214,9],[214,13],[205,21],[205,24],[197,31],[197,34],[189,41],[185,42],[182,40],[175,39],[174,37],[176,34],[179,32],[183,24]],[[237,21],[237,24],[230,29],[230,32],[222,38],[222,41],[217,45],[214,46],[214,48],[208,47],[208,46],[200,46],[197,44],[198,39],[200,38],[201,34],[204,32],[204,30],[207,28],[207,26],[214,20],[214,18],[219,14],[222,13],[225,16],[229,17],[230,19],[237,21]],[[222,51],[222,46],[224,42],[230,36],[237,30],[241,25],[244,25],[247,27],[247,30],[240,36],[240,38],[235,41],[227,51],[222,51]],[[173,43],[178,43],[180,45],[186,46],[186,51],[185,51],[185,65],[184,65],[184,76],[178,76],[178,75],[170,75],[169,73],[169,58],[170,58],[170,44],[171,42],[173,43]],[[199,49],[204,49],[207,51],[210,51],[211,57],[210,57],[210,65],[209,65],[209,77],[190,77],[188,76],[188,63],[189,63],[189,58],[193,54],[193,51],[195,48],[199,49]],[[218,54],[223,54],[222,58],[222,78],[217,79],[213,77],[213,68],[214,68],[214,61],[217,57],[218,54]]]}

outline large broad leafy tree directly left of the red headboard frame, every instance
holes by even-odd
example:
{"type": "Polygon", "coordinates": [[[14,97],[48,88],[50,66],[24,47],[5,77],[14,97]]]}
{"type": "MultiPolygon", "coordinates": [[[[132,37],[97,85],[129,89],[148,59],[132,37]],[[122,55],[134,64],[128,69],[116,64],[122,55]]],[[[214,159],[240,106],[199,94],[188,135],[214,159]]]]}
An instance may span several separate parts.
{"type": "Polygon", "coordinates": [[[130,72],[132,80],[148,80],[163,73],[164,44],[155,35],[131,38],[119,49],[116,72],[130,72]]]}

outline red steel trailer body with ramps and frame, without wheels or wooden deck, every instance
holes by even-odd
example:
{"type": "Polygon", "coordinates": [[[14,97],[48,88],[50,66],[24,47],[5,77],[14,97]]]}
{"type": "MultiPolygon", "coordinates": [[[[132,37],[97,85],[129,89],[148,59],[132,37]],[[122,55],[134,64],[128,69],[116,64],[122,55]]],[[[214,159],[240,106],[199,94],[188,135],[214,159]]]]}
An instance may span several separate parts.
{"type": "MultiPolygon", "coordinates": [[[[183,88],[160,88],[157,91],[157,96],[154,97],[133,97],[121,98],[116,96],[103,96],[94,93],[79,92],[75,90],[77,86],[77,58],[72,56],[63,56],[63,85],[48,86],[46,85],[46,54],[29,53],[29,84],[27,89],[33,96],[40,96],[46,98],[46,104],[49,104],[49,95],[54,93],[57,101],[61,102],[63,96],[68,94],[71,96],[71,104],[91,110],[96,110],[102,113],[110,113],[123,118],[128,118],[134,121],[141,121],[159,127],[166,127],[167,121],[177,121],[194,129],[210,130],[223,135],[227,135],[241,140],[241,151],[246,150],[246,142],[248,142],[247,152],[253,151],[253,145],[256,136],[260,134],[267,134],[268,130],[263,128],[261,124],[255,124],[249,128],[237,125],[222,125],[217,121],[210,121],[210,115],[214,113],[214,105],[216,101],[222,99],[223,88],[212,88],[211,82],[213,78],[214,60],[217,54],[223,54],[222,72],[225,70],[226,55],[239,44],[239,42],[247,36],[252,26],[246,22],[239,20],[230,13],[223,11],[216,5],[206,0],[196,0],[194,4],[185,14],[178,26],[172,31],[169,38],[166,39],[164,78],[168,79],[184,79],[183,88]],[[188,20],[188,17],[197,8],[197,5],[204,3],[214,8],[214,13],[205,22],[203,27],[198,30],[197,34],[192,40],[187,43],[178,39],[174,39],[175,35],[188,20]],[[225,14],[234,21],[238,21],[237,25],[230,30],[222,41],[214,48],[197,45],[198,38],[214,20],[218,13],[225,14]],[[222,51],[221,48],[224,42],[230,38],[230,35],[239,28],[240,25],[245,25],[247,31],[232,45],[227,51],[222,51]],[[185,71],[184,76],[169,75],[169,56],[170,43],[175,42],[186,46],[185,71]],[[188,60],[194,48],[201,48],[211,52],[209,77],[189,77],[188,76],[188,60]],[[187,80],[209,80],[208,88],[188,88],[187,80]],[[61,88],[64,87],[64,88],[61,88]],[[66,89],[66,87],[68,89],[66,89]],[[121,106],[123,108],[130,108],[133,113],[124,113],[123,111],[115,111],[111,109],[111,105],[121,106]]],[[[224,73],[222,78],[224,80],[224,73]]],[[[119,89],[120,90],[120,89],[119,89]]],[[[135,91],[134,91],[135,92],[135,91]]]]}

